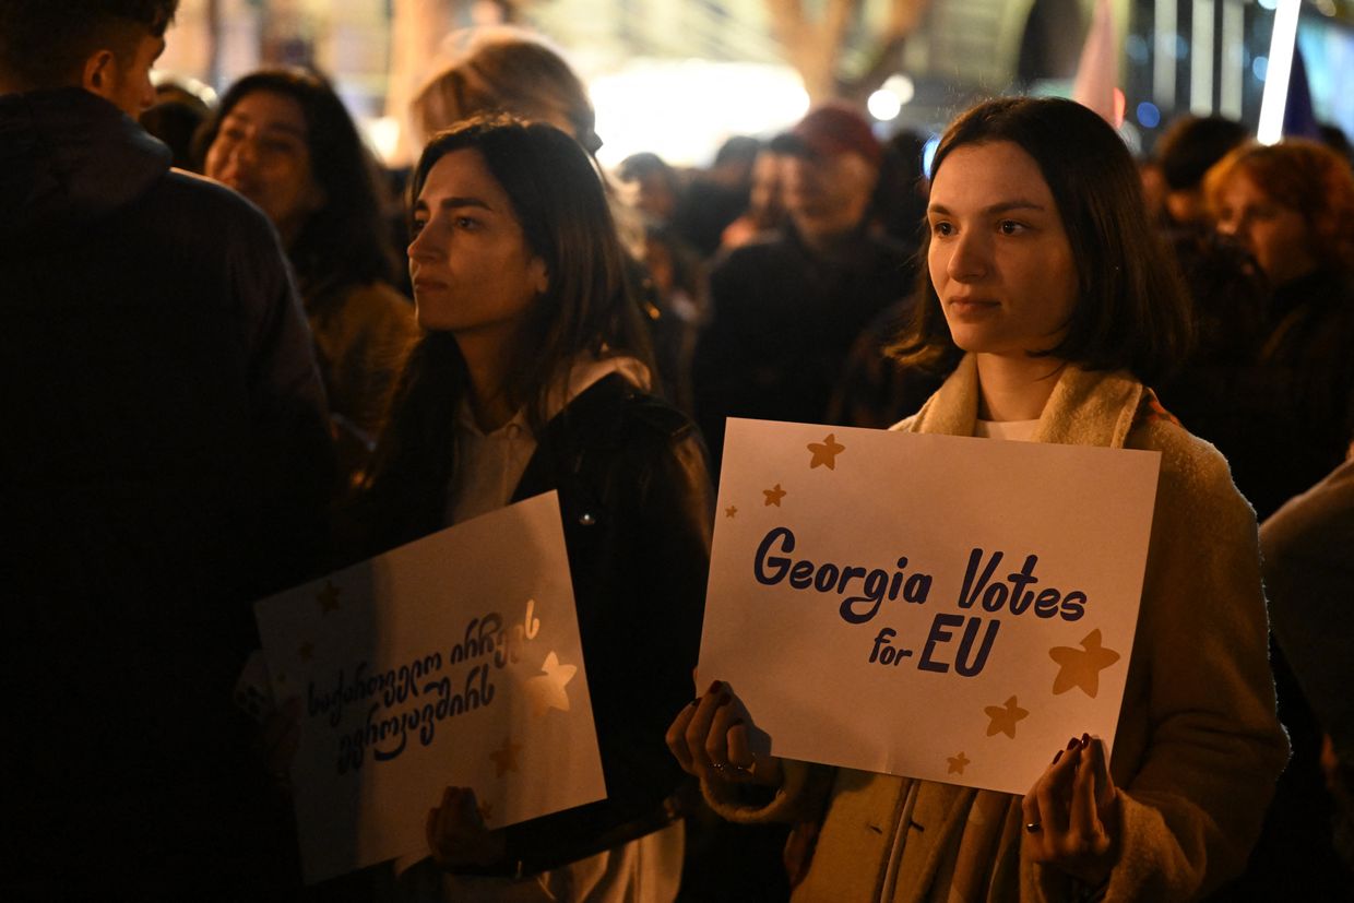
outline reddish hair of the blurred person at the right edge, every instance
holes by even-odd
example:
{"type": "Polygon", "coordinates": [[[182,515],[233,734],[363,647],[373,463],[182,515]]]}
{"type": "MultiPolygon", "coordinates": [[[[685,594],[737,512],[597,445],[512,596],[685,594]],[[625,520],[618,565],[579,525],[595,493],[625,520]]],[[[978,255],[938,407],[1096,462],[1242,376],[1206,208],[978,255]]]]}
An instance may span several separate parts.
{"type": "Polygon", "coordinates": [[[1204,177],[1204,194],[1215,215],[1223,190],[1236,173],[1303,215],[1320,267],[1354,273],[1354,171],[1347,160],[1301,138],[1236,148],[1204,177]]]}

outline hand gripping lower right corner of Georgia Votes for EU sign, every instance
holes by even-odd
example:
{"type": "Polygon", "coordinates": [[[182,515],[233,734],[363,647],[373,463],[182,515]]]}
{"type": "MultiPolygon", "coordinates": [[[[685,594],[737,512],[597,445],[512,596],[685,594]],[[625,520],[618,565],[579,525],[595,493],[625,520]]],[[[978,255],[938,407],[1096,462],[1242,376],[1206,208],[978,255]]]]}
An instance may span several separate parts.
{"type": "Polygon", "coordinates": [[[1118,857],[1118,803],[1098,736],[1082,734],[1059,750],[1021,810],[1025,856],[1090,887],[1109,880],[1118,857]]]}

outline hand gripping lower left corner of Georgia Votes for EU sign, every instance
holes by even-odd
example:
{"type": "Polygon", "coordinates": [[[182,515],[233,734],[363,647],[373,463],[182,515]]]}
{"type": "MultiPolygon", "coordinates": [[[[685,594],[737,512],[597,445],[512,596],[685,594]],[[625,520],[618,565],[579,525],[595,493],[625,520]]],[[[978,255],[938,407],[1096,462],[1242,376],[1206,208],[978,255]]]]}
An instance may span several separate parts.
{"type": "Polygon", "coordinates": [[[677,713],[668,728],[668,749],[688,774],[705,781],[781,785],[780,759],[758,758],[747,747],[747,724],[737,713],[728,684],[715,681],[677,713]]]}

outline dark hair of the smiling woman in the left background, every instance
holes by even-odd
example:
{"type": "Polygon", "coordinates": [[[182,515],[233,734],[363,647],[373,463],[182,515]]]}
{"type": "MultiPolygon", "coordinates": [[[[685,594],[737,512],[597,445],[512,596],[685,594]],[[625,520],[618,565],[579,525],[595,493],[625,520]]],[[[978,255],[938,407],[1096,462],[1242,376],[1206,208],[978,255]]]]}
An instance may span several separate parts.
{"type": "Polygon", "coordinates": [[[389,282],[394,261],[376,161],[348,108],[321,76],[302,69],[263,69],[236,81],[194,139],[198,161],[206,158],[236,104],[260,92],[290,97],[301,107],[310,172],[324,192],[324,206],[310,214],[287,248],[302,291],[309,295],[320,284],[338,291],[389,282]]]}

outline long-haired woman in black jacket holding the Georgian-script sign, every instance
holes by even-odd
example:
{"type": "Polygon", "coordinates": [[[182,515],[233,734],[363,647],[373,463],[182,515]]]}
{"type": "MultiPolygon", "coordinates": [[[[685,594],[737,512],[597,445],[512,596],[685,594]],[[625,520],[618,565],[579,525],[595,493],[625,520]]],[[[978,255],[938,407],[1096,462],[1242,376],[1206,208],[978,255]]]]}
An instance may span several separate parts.
{"type": "Polygon", "coordinates": [[[573,138],[470,119],[427,146],[410,200],[425,334],[353,510],[363,554],[558,490],[608,796],[486,831],[473,792],[448,788],[429,800],[432,857],[403,880],[420,899],[670,900],[682,774],[663,728],[700,642],[704,445],[646,391],[624,252],[573,138]]]}

